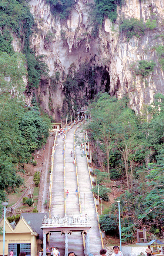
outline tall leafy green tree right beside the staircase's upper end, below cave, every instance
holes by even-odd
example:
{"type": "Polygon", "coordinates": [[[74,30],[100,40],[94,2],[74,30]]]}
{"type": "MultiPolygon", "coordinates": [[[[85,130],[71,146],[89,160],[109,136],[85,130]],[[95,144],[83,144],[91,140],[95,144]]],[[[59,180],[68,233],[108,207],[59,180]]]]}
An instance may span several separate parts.
{"type": "Polygon", "coordinates": [[[114,137],[120,130],[116,118],[126,105],[127,100],[119,101],[107,93],[99,94],[90,106],[92,122],[88,125],[91,138],[104,151],[107,158],[107,172],[110,173],[109,153],[114,145],[114,137]]]}

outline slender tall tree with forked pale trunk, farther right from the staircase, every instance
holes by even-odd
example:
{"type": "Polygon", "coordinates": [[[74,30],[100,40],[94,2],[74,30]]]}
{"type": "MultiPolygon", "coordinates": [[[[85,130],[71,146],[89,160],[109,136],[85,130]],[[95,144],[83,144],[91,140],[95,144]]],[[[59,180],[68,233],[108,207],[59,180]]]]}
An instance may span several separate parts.
{"type": "Polygon", "coordinates": [[[134,169],[144,161],[145,135],[138,117],[130,108],[124,108],[116,122],[120,123],[121,128],[115,137],[115,143],[124,160],[128,192],[132,192],[134,169]]]}

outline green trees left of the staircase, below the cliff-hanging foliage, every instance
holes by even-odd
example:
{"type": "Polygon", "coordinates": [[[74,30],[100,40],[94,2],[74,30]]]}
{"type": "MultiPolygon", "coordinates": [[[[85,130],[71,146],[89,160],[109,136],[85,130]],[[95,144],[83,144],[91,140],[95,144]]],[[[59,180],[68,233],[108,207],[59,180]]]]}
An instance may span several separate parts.
{"type": "MultiPolygon", "coordinates": [[[[24,56],[0,53],[0,201],[23,183],[17,175],[33,150],[46,142],[49,121],[37,109],[23,108],[24,56]]],[[[0,204],[1,205],[1,204],[0,204]]]]}

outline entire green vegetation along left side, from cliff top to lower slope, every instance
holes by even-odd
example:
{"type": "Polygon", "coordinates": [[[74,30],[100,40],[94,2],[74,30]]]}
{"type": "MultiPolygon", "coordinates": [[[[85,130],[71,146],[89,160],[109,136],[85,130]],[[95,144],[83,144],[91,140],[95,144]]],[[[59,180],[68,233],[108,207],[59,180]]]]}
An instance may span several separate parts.
{"type": "Polygon", "coordinates": [[[30,160],[31,153],[41,148],[48,137],[50,119],[39,109],[37,102],[33,100],[34,108],[24,109],[25,77],[29,87],[37,87],[41,74],[48,75],[43,56],[36,58],[29,48],[33,25],[26,1],[1,1],[0,215],[1,202],[23,183],[17,172],[23,171],[23,163],[30,160]],[[14,52],[13,35],[20,39],[22,53],[14,52]]]}

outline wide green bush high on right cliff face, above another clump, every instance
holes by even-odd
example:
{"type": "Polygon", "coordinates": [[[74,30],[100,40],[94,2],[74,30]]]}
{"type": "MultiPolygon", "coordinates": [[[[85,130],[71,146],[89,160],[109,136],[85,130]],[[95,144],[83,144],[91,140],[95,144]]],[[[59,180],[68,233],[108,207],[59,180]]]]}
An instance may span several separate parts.
{"type": "Polygon", "coordinates": [[[127,41],[132,36],[137,36],[138,38],[145,33],[145,26],[143,20],[138,19],[124,19],[120,25],[120,32],[124,32],[127,38],[127,41]]]}

